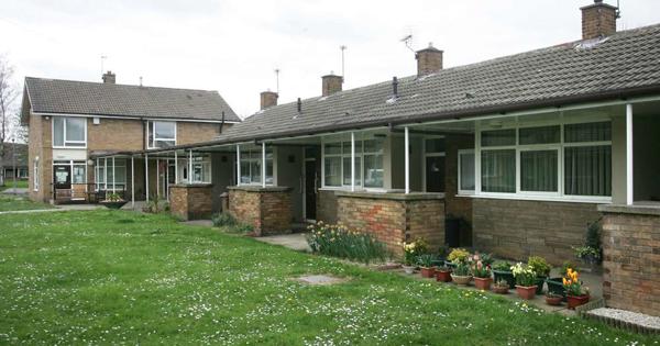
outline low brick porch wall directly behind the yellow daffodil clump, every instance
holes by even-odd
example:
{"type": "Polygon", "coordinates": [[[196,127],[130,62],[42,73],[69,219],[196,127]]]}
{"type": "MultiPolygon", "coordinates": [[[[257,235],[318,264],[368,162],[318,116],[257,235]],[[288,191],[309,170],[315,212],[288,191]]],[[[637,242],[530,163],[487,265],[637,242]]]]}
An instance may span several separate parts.
{"type": "Polygon", "coordinates": [[[444,243],[442,193],[336,191],[338,222],[385,243],[396,255],[402,243],[424,236],[437,249],[444,243]]]}

